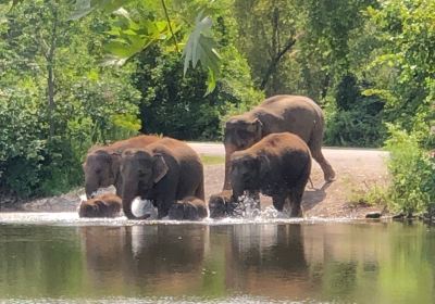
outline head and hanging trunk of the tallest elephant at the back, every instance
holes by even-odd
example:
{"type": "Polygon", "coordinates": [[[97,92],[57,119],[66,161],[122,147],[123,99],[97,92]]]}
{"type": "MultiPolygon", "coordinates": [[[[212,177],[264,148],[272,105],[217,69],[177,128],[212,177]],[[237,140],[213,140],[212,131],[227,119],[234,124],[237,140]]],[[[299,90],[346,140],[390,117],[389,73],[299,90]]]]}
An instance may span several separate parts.
{"type": "Polygon", "coordinates": [[[231,189],[229,170],[231,155],[235,151],[244,150],[261,140],[263,124],[259,118],[247,118],[244,115],[234,116],[225,126],[225,181],[224,190],[231,189]]]}

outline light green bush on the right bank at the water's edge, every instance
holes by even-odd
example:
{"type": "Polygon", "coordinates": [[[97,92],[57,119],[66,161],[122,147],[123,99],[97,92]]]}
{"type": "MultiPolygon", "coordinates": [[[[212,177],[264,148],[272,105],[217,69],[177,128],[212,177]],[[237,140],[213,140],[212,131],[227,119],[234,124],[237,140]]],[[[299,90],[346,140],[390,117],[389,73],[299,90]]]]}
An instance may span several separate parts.
{"type": "Polygon", "coordinates": [[[435,160],[420,148],[415,134],[388,125],[390,152],[388,169],[393,176],[391,206],[407,214],[423,212],[435,203],[435,160]]]}

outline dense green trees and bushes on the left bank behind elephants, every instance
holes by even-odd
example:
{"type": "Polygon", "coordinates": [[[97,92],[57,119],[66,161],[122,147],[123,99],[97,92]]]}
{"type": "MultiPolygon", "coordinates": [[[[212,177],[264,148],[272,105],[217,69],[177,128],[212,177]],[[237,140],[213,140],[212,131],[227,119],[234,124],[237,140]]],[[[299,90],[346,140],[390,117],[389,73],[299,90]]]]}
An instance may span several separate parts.
{"type": "Polygon", "coordinates": [[[28,197],[80,185],[87,149],[132,136],[140,125],[139,96],[127,77],[132,67],[98,66],[108,25],[99,18],[67,22],[69,9],[35,1],[2,11],[2,191],[28,197]]]}

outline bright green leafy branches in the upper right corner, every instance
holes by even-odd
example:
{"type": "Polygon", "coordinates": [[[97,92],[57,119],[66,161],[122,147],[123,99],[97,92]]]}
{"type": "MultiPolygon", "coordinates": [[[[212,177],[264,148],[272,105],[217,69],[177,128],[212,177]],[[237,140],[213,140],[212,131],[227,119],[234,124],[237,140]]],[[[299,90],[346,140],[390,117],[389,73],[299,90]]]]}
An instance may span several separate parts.
{"type": "Polygon", "coordinates": [[[389,73],[377,80],[377,89],[389,96],[389,119],[412,130],[415,124],[426,122],[430,115],[435,78],[435,2],[432,0],[399,1],[382,3],[369,9],[368,14],[377,27],[382,41],[380,54],[371,68],[388,66],[389,73]],[[389,81],[394,77],[394,81],[389,81]]]}

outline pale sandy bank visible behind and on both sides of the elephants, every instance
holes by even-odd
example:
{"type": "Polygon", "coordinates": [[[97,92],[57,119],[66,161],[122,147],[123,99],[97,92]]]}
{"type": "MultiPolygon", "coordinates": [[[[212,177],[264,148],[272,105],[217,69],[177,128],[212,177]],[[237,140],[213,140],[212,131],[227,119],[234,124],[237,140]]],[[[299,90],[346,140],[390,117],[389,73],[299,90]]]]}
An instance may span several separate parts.
{"type": "MultiPolygon", "coordinates": [[[[223,144],[219,143],[189,143],[198,153],[206,155],[224,155],[223,144]]],[[[327,149],[325,157],[334,167],[337,178],[331,183],[324,183],[323,173],[313,161],[311,179],[313,188],[307,186],[303,194],[302,208],[307,217],[351,217],[361,218],[372,211],[381,211],[381,206],[366,206],[357,202],[375,186],[384,186],[388,182],[385,164],[388,154],[380,150],[369,149],[327,149]]],[[[224,178],[224,165],[208,165],[206,173],[206,198],[219,193],[224,178]]],[[[71,212],[79,204],[79,195],[83,189],[72,191],[61,197],[45,198],[20,204],[18,210],[32,212],[71,212]]],[[[261,198],[261,205],[271,204],[271,199],[261,198]]],[[[4,207],[3,211],[8,208],[4,207]]],[[[11,205],[11,204],[10,204],[11,205]]],[[[15,204],[12,204],[15,205],[15,204]]],[[[12,207],[11,205],[11,207],[12,207]]],[[[15,207],[12,207],[16,210],[15,207]]],[[[11,210],[11,208],[10,208],[11,210]]]]}

